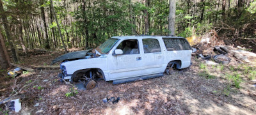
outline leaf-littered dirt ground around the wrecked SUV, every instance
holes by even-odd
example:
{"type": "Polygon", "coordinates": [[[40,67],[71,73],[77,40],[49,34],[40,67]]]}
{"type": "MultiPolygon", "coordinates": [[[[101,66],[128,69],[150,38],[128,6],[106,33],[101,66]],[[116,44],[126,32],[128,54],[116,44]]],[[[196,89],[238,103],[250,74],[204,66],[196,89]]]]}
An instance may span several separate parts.
{"type": "MultiPolygon", "coordinates": [[[[24,57],[21,65],[49,65],[51,59],[60,56],[60,52],[24,57]]],[[[20,102],[22,110],[9,114],[255,114],[256,84],[248,79],[243,66],[230,63],[223,68],[206,66],[211,79],[202,73],[201,59],[192,57],[193,65],[176,70],[172,75],[113,85],[112,82],[98,81],[97,87],[84,91],[78,90],[75,96],[66,97],[72,86],[63,84],[57,75],[58,69],[38,69],[33,73],[24,73],[16,79],[1,82],[1,100],[12,93],[13,82],[17,86],[31,84],[21,93],[25,95],[20,102]],[[237,66],[240,66],[238,68],[237,66]],[[235,66],[230,70],[230,66],[235,66]],[[235,88],[227,80],[227,73],[241,73],[241,88],[235,88]],[[10,81],[10,82],[7,82],[10,81]],[[120,97],[117,104],[104,104],[102,99],[120,97]]],[[[234,61],[234,60],[233,60],[234,61]]],[[[6,77],[8,78],[8,77],[6,77]]],[[[4,107],[4,106],[1,106],[4,107]]],[[[2,109],[4,110],[4,109],[2,109]]]]}

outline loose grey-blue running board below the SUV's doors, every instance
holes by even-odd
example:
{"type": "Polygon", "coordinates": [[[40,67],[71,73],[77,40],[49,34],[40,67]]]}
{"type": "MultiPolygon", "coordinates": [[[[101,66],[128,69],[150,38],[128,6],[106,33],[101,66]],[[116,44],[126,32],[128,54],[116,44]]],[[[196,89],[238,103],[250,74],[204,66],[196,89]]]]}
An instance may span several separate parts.
{"type": "Polygon", "coordinates": [[[118,79],[118,80],[114,80],[113,84],[124,84],[126,82],[142,81],[145,79],[153,79],[156,77],[162,77],[163,75],[164,75],[163,73],[155,73],[155,74],[151,74],[151,75],[143,75],[143,76],[131,77],[131,78],[127,78],[127,79],[118,79]]]}

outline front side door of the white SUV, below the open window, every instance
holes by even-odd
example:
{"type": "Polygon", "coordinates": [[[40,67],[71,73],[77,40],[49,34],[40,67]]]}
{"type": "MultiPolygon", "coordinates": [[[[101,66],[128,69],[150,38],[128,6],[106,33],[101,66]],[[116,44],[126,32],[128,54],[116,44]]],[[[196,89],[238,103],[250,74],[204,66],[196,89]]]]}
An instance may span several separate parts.
{"type": "Polygon", "coordinates": [[[107,81],[137,77],[141,75],[141,68],[143,65],[141,62],[140,47],[138,47],[138,45],[139,42],[136,39],[124,40],[120,44],[117,44],[118,47],[115,49],[123,50],[124,54],[115,56],[114,51],[114,55],[108,56],[109,79],[106,79],[107,81]],[[130,49],[125,47],[125,43],[127,41],[132,41],[133,43],[130,49]]]}

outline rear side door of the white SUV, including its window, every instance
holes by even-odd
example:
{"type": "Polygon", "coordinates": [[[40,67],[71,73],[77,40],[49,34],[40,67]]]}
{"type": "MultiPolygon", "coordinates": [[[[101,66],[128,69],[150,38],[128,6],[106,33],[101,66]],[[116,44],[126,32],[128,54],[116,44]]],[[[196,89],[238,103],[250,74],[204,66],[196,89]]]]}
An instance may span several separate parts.
{"type": "Polygon", "coordinates": [[[142,43],[143,52],[141,60],[144,65],[141,71],[142,75],[163,73],[165,69],[164,56],[159,40],[156,38],[144,38],[142,39],[142,43]]]}

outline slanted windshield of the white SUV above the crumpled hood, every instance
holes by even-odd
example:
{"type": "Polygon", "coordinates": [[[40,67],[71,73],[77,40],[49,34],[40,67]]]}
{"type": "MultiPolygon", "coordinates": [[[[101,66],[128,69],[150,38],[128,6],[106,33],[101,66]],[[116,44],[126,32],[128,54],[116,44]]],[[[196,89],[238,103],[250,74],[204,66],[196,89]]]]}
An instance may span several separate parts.
{"type": "Polygon", "coordinates": [[[112,47],[118,42],[119,39],[109,38],[106,42],[102,43],[99,47],[96,48],[101,54],[106,54],[112,47]]]}

